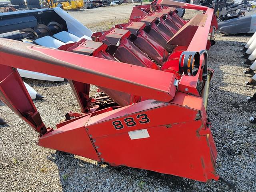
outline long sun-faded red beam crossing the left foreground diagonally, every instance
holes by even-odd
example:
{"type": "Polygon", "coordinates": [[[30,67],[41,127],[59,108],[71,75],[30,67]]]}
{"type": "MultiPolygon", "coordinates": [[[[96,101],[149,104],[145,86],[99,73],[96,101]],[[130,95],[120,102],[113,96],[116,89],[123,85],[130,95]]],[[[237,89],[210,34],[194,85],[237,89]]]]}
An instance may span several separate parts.
{"type": "Polygon", "coordinates": [[[165,102],[174,98],[175,93],[170,94],[174,88],[174,76],[167,72],[41,46],[30,46],[13,40],[2,39],[0,42],[0,61],[8,66],[165,102]],[[10,57],[12,60],[7,59],[10,57]]]}

